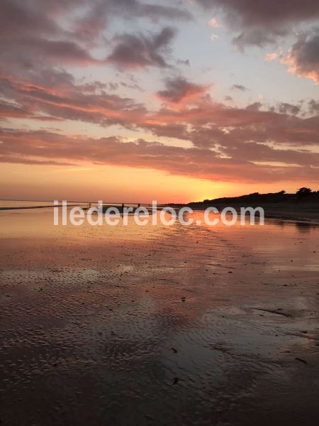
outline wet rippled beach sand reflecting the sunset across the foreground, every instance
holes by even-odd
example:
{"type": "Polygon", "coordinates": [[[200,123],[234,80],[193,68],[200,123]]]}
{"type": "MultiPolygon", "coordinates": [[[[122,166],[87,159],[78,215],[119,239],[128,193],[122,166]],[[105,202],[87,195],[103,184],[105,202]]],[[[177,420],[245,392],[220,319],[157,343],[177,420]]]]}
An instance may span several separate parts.
{"type": "Polygon", "coordinates": [[[318,237],[1,212],[1,424],[314,425],[318,237]]]}

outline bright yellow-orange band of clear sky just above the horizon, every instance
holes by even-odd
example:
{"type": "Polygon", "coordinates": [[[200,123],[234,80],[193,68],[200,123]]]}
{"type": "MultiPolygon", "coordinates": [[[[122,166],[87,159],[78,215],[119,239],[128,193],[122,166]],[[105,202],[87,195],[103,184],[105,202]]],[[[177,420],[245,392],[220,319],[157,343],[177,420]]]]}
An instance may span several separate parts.
{"type": "MultiPolygon", "coordinates": [[[[233,183],[172,175],[147,168],[113,165],[57,166],[3,164],[0,198],[105,202],[187,203],[251,192],[295,192],[291,182],[233,183]],[[79,187],[79,182],[81,185],[79,187]]],[[[313,182],[308,182],[311,186],[313,182]]],[[[313,186],[313,185],[312,185],[313,186]]]]}

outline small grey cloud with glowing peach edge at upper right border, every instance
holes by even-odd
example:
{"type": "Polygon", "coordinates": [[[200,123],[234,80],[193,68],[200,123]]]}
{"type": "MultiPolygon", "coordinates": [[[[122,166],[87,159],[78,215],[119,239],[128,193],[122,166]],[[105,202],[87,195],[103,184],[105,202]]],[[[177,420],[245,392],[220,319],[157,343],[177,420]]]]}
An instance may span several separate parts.
{"type": "Polygon", "coordinates": [[[288,66],[288,72],[298,77],[307,77],[319,82],[319,28],[300,35],[281,64],[288,66]]]}

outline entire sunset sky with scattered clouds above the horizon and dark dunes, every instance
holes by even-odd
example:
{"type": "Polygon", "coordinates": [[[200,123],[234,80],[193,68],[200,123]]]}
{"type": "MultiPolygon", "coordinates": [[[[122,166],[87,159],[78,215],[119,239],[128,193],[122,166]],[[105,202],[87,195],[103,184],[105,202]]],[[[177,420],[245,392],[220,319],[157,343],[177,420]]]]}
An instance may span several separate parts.
{"type": "Polygon", "coordinates": [[[1,0],[0,198],[319,185],[318,0],[1,0]]]}

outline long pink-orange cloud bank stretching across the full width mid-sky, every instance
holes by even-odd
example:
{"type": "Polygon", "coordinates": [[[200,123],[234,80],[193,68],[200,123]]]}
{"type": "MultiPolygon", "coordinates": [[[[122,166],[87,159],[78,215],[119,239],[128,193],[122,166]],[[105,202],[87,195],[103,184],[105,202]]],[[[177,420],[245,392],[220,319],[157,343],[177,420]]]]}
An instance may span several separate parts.
{"type": "Polygon", "coordinates": [[[3,119],[119,124],[158,137],[179,138],[201,148],[226,149],[247,141],[294,150],[318,145],[319,115],[315,101],[309,104],[313,116],[308,118],[297,115],[300,105],[284,102],[269,110],[263,110],[258,102],[246,108],[227,107],[212,101],[207,94],[208,86],[175,77],[165,80],[165,88],[156,92],[164,107],[148,111],[134,99],[107,93],[103,84],[76,84],[66,72],[47,72],[38,84],[2,75],[0,84],[4,99],[12,99],[0,104],[3,119]]]}

